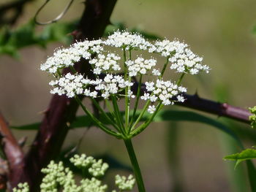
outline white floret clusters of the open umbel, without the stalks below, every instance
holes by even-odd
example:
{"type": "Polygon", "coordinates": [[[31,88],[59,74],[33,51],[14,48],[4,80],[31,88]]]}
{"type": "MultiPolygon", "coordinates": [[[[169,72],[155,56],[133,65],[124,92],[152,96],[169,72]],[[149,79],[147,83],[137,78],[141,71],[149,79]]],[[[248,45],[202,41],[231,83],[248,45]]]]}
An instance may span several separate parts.
{"type": "Polygon", "coordinates": [[[129,99],[135,98],[131,91],[132,77],[143,77],[146,81],[146,90],[142,100],[151,101],[148,105],[148,112],[154,113],[155,103],[169,105],[175,101],[184,101],[182,93],[187,91],[179,84],[165,80],[163,77],[166,66],[181,74],[198,74],[199,72],[209,72],[209,67],[202,64],[203,58],[195,55],[184,42],[167,39],[156,42],[148,42],[140,34],[129,33],[127,31],[115,31],[107,39],[86,40],[76,42],[68,48],[56,50],[53,56],[41,65],[42,71],[49,72],[57,77],[57,80],[49,84],[53,86],[50,93],[66,95],[70,98],[76,95],[83,95],[90,98],[109,99],[111,96],[125,96],[129,99]],[[115,53],[113,47],[128,52],[129,57],[115,53]],[[131,53],[143,50],[152,54],[151,58],[143,58],[138,55],[132,59],[131,53]],[[162,55],[167,63],[160,65],[153,54],[162,55]],[[96,55],[96,56],[95,56],[96,55]],[[94,79],[84,77],[83,74],[76,72],[61,74],[61,69],[72,68],[75,62],[85,58],[91,64],[94,79]],[[121,59],[122,58],[122,59],[121,59]],[[124,74],[121,75],[121,69],[124,74]],[[105,74],[105,77],[99,74],[105,74]],[[127,90],[124,95],[124,90],[127,90]]]}

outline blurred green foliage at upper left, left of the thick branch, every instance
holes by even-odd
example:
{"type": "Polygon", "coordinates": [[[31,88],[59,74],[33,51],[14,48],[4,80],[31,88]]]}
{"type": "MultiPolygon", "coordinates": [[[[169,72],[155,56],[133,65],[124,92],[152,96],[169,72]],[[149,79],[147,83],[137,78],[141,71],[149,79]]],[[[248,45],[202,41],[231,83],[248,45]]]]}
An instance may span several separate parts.
{"type": "Polygon", "coordinates": [[[5,27],[0,31],[0,55],[7,54],[18,58],[18,50],[23,47],[31,45],[46,47],[49,42],[68,44],[72,40],[72,36],[69,33],[75,29],[75,26],[76,22],[53,23],[46,26],[39,34],[34,20],[16,30],[5,27]]]}

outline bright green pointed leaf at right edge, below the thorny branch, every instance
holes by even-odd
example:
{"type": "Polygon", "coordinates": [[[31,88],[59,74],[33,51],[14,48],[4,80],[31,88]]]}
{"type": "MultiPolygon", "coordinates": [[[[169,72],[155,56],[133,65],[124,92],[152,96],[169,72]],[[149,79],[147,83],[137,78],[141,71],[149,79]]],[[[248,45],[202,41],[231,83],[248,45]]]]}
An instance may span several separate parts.
{"type": "Polygon", "coordinates": [[[236,161],[236,166],[241,163],[241,161],[245,161],[248,159],[256,158],[256,150],[254,149],[246,149],[241,151],[240,153],[235,153],[233,155],[225,156],[225,160],[233,160],[236,161]]]}

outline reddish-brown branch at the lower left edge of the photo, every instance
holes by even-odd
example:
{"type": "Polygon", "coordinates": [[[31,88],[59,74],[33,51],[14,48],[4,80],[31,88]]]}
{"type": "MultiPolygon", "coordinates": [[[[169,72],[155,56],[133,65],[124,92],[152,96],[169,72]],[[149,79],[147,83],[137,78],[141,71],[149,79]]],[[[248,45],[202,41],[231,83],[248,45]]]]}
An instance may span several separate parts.
{"type": "MultiPolygon", "coordinates": [[[[21,177],[20,172],[17,169],[24,169],[23,163],[23,150],[18,145],[18,141],[13,137],[12,132],[4,120],[4,117],[0,113],[0,134],[1,134],[1,147],[8,162],[8,170],[6,170],[4,175],[4,161],[1,160],[1,182],[4,182],[4,177],[7,176],[7,180],[10,185],[13,185],[13,181],[17,177],[21,177]]],[[[21,180],[22,181],[22,180],[21,180]]],[[[4,183],[1,183],[4,185],[4,183]]]]}

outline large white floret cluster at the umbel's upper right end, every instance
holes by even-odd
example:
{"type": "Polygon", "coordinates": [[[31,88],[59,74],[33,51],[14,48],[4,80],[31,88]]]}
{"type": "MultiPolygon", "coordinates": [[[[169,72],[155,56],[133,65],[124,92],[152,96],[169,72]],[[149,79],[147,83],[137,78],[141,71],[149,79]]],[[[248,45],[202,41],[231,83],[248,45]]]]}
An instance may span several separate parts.
{"type": "Polygon", "coordinates": [[[209,66],[201,64],[203,58],[192,53],[188,45],[182,42],[170,42],[167,39],[157,41],[148,51],[161,53],[162,56],[167,57],[171,63],[170,69],[176,69],[176,72],[197,74],[201,71],[208,73],[210,70],[209,66]]]}

